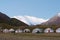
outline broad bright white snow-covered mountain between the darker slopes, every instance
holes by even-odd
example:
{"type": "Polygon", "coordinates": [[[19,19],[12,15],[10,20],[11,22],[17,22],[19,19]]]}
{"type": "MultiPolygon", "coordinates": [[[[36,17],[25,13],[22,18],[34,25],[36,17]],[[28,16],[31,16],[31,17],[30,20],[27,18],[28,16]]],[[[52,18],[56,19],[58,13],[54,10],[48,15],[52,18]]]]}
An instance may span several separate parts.
{"type": "Polygon", "coordinates": [[[28,25],[37,25],[47,21],[45,19],[37,18],[33,16],[14,16],[13,18],[16,18],[28,25]]]}

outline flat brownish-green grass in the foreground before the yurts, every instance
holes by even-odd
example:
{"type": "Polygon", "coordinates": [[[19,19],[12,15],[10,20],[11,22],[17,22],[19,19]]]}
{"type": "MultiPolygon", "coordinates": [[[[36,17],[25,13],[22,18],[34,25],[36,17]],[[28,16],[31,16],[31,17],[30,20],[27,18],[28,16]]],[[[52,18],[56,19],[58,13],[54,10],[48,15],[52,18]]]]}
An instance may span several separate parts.
{"type": "Polygon", "coordinates": [[[0,33],[0,40],[60,40],[60,33],[0,33]]]}

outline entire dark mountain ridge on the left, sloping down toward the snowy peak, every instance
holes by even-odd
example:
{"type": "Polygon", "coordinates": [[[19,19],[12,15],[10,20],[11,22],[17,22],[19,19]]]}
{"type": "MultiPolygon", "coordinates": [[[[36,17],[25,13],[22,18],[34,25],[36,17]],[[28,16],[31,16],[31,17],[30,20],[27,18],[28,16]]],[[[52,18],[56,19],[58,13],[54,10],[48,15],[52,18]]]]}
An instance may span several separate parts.
{"type": "Polygon", "coordinates": [[[16,18],[10,18],[6,14],[0,12],[0,27],[2,28],[19,28],[20,26],[28,26],[24,22],[16,19],[16,18]]]}

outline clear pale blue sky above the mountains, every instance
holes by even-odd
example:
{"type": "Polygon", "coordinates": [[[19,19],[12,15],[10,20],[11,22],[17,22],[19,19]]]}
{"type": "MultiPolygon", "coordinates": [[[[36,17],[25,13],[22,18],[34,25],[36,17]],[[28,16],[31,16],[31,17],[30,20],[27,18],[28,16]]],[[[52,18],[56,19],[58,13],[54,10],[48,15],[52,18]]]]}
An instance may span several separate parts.
{"type": "Polygon", "coordinates": [[[60,0],[0,0],[0,12],[48,19],[60,12],[60,0]]]}

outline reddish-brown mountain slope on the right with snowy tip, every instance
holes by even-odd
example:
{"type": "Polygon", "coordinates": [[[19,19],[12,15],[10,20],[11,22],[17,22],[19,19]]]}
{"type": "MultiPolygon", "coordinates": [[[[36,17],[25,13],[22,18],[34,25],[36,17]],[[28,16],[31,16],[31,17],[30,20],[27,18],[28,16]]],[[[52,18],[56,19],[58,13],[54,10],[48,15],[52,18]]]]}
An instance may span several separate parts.
{"type": "Polygon", "coordinates": [[[57,13],[55,16],[50,18],[47,22],[42,23],[43,25],[60,25],[60,13],[57,13]]]}

